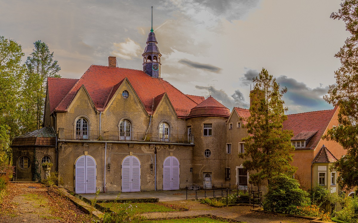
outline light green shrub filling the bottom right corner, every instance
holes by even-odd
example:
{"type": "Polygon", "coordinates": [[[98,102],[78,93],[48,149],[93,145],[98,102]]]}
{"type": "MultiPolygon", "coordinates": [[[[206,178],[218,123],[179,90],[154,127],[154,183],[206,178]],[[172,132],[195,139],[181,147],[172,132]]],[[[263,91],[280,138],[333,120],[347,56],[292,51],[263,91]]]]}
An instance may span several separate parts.
{"type": "Polygon", "coordinates": [[[344,207],[335,212],[337,220],[349,223],[358,223],[358,197],[344,199],[344,207]]]}

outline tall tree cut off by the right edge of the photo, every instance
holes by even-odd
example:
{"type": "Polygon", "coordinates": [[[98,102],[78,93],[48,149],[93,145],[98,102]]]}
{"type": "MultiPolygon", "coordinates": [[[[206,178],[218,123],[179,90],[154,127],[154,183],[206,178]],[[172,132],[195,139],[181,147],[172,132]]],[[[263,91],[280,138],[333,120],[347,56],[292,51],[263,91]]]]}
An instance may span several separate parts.
{"type": "Polygon", "coordinates": [[[329,86],[328,95],[323,98],[339,106],[339,126],[328,130],[325,139],[334,140],[347,150],[347,155],[332,166],[337,170],[338,184],[345,190],[358,187],[358,0],[345,0],[338,12],[331,18],[343,20],[351,34],[334,56],[341,66],[334,72],[336,83],[329,86]]]}

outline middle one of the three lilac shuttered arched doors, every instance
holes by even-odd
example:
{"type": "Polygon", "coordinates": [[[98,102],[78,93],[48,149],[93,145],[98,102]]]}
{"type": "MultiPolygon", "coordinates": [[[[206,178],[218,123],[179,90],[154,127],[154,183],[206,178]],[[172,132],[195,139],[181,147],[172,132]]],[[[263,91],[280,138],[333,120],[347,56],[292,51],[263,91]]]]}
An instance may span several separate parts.
{"type": "Polygon", "coordinates": [[[140,191],[140,162],[133,155],[122,162],[122,192],[140,191]]]}

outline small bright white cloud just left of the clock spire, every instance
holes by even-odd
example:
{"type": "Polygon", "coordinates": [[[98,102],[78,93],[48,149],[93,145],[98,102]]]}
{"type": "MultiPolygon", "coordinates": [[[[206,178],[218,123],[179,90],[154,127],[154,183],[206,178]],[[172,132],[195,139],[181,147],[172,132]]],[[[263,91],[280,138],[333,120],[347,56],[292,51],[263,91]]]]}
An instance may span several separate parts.
{"type": "Polygon", "coordinates": [[[113,43],[113,46],[116,49],[112,51],[112,54],[125,60],[131,60],[133,57],[140,57],[143,52],[139,43],[136,43],[130,38],[127,38],[127,40],[122,43],[113,43]]]}

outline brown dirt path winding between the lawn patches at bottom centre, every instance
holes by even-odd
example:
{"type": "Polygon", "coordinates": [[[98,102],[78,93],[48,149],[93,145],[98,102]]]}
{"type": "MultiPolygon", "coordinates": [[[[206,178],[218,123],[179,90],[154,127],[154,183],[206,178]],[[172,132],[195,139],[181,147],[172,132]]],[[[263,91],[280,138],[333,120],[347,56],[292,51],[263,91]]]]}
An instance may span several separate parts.
{"type": "Polygon", "coordinates": [[[303,218],[285,217],[276,214],[252,212],[248,206],[231,206],[214,208],[206,204],[200,204],[191,200],[179,200],[164,202],[168,204],[182,205],[189,209],[184,212],[145,213],[146,218],[174,218],[194,216],[200,214],[212,214],[223,218],[230,218],[247,223],[308,223],[310,220],[303,218]]]}

